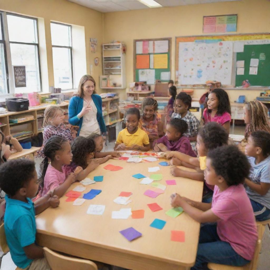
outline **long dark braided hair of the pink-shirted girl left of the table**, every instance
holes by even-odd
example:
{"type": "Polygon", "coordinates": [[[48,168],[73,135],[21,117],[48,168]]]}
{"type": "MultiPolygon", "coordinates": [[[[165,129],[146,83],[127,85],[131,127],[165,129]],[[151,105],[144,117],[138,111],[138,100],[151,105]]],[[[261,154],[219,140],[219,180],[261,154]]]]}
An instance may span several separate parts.
{"type": "Polygon", "coordinates": [[[56,151],[61,150],[63,143],[65,143],[66,141],[68,140],[60,136],[53,136],[53,137],[50,137],[50,139],[46,142],[45,147],[43,148],[43,153],[44,153],[45,158],[40,164],[40,171],[42,171],[42,173],[39,178],[39,184],[41,187],[44,187],[44,177],[45,177],[48,165],[49,165],[49,159],[51,161],[54,160],[56,151]]]}

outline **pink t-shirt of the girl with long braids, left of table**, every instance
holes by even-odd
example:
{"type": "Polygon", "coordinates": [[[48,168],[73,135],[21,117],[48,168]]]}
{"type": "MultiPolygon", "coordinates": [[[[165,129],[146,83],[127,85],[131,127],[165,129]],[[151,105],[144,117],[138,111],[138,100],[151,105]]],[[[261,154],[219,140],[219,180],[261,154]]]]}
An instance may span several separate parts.
{"type": "Polygon", "coordinates": [[[59,187],[59,185],[64,183],[66,177],[70,173],[70,169],[66,165],[63,165],[62,171],[63,173],[56,170],[51,164],[48,165],[44,177],[44,187],[42,191],[42,196],[45,196],[46,194],[49,193],[49,191],[55,190],[55,188],[59,187]]]}

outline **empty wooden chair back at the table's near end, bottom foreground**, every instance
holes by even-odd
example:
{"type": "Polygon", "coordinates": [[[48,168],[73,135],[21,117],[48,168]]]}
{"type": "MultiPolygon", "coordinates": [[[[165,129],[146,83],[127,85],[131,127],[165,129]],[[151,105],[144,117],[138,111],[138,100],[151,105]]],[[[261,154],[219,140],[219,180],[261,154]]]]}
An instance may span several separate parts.
{"type": "Polygon", "coordinates": [[[43,251],[51,270],[97,270],[97,265],[89,260],[63,256],[46,247],[43,251]]]}

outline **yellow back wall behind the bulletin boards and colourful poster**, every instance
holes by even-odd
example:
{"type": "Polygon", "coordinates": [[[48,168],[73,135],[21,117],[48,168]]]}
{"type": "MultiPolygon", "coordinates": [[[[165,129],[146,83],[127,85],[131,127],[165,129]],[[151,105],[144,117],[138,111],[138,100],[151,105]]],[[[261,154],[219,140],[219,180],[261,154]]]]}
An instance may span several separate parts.
{"type": "MultiPolygon", "coordinates": [[[[174,6],[133,11],[104,13],[104,42],[120,40],[127,45],[127,86],[133,82],[133,40],[172,37],[171,75],[175,77],[175,37],[204,35],[203,16],[238,14],[237,33],[261,33],[270,31],[270,1],[242,0],[212,4],[174,6]]],[[[125,98],[125,90],[117,90],[125,98]]],[[[200,97],[205,90],[194,90],[200,97]]],[[[228,90],[231,101],[239,95],[253,100],[260,90],[228,90]],[[243,93],[244,91],[244,93],[243,93]]]]}

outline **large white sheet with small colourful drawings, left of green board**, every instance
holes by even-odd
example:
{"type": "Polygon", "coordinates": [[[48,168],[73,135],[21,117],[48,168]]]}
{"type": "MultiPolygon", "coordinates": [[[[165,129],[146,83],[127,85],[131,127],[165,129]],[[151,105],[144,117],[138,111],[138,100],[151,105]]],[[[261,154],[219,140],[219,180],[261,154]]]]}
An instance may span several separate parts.
{"type": "Polygon", "coordinates": [[[179,42],[178,84],[205,84],[217,80],[231,85],[232,41],[179,42]]]}

